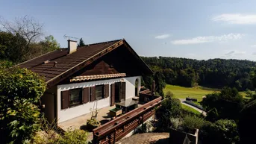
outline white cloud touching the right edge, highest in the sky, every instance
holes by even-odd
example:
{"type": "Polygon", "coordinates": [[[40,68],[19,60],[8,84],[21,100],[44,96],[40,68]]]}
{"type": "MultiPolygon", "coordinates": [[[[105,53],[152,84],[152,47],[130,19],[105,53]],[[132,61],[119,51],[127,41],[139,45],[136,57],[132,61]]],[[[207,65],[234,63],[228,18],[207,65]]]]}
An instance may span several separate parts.
{"type": "Polygon", "coordinates": [[[256,24],[256,14],[225,13],[215,16],[213,21],[229,22],[231,24],[256,24]]]}

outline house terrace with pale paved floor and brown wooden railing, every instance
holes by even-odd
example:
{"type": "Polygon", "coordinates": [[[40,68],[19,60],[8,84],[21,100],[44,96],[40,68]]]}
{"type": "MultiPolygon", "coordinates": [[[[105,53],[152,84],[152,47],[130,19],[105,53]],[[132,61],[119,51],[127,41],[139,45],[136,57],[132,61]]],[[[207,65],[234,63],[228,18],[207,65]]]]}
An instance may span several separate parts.
{"type": "MultiPolygon", "coordinates": [[[[133,104],[136,100],[126,100],[123,104],[133,104]]],[[[118,107],[122,104],[116,104],[112,107],[104,107],[99,110],[97,120],[101,123],[98,128],[93,129],[93,133],[90,131],[88,140],[93,140],[95,143],[114,143],[117,140],[122,139],[134,128],[141,125],[147,119],[154,114],[154,107],[160,104],[161,97],[152,96],[151,91],[144,90],[140,92],[139,101],[137,107],[134,109],[128,109],[125,111],[122,109],[120,116],[111,116],[110,110],[118,107]],[[124,111],[126,113],[124,113],[124,111]],[[122,129],[122,131],[120,131],[122,129]]],[[[92,113],[87,113],[83,116],[78,116],[75,119],[69,119],[66,122],[60,122],[59,127],[64,131],[68,129],[87,129],[87,119],[90,119],[92,113]]]]}

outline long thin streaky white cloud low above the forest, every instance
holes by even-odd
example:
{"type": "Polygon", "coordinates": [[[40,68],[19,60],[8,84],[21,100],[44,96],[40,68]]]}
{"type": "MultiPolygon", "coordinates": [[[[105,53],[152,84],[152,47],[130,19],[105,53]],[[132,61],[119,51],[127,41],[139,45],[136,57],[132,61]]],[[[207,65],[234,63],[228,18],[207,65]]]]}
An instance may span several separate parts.
{"type": "Polygon", "coordinates": [[[173,45],[190,45],[199,43],[221,42],[226,40],[237,40],[244,36],[244,34],[224,34],[221,36],[206,36],[206,37],[193,37],[185,40],[173,40],[173,45]]]}

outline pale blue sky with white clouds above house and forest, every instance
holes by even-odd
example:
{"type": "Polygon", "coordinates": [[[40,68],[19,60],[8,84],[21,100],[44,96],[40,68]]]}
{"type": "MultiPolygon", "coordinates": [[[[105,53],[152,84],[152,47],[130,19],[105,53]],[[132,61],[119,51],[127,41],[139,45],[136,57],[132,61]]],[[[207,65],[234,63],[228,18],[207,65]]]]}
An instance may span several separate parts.
{"type": "Polygon", "coordinates": [[[124,38],[137,54],[256,60],[255,0],[0,0],[9,21],[31,16],[61,47],[124,38]]]}

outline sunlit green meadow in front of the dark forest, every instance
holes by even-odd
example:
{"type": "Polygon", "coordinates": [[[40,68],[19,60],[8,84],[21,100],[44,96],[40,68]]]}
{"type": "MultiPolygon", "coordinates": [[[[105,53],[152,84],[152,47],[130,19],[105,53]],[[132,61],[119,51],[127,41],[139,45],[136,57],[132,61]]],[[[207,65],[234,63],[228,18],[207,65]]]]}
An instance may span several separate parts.
{"type": "MultiPolygon", "coordinates": [[[[219,92],[218,90],[213,90],[205,87],[180,87],[167,84],[163,89],[163,93],[171,91],[174,94],[175,98],[197,98],[198,101],[202,101],[202,96],[206,96],[209,93],[213,93],[214,91],[219,92]]],[[[240,94],[245,97],[246,93],[240,92],[240,94]]]]}

